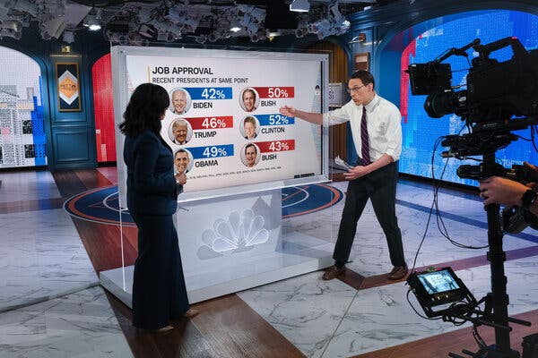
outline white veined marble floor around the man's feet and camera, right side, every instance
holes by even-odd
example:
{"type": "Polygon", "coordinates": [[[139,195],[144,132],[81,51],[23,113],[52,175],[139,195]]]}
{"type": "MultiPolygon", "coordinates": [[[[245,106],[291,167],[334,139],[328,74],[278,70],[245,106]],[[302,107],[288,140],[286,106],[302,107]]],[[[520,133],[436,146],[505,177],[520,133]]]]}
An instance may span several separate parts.
{"type": "MultiPolygon", "coordinates": [[[[341,190],[345,190],[345,185],[334,183],[341,190]]],[[[416,267],[444,267],[451,261],[485,256],[486,249],[462,249],[449,243],[439,233],[435,217],[432,217],[421,250],[417,251],[428,221],[432,191],[409,182],[399,183],[397,199],[397,216],[410,267],[415,257],[416,267]]],[[[467,246],[487,244],[482,202],[467,195],[460,197],[441,192],[438,201],[441,215],[445,217],[443,222],[453,240],[467,246]]],[[[338,206],[335,214],[337,212],[338,206]]],[[[505,236],[503,247],[511,251],[536,243],[536,233],[527,228],[521,234],[505,236]]],[[[353,251],[354,258],[347,267],[362,276],[381,275],[392,268],[385,236],[371,205],[367,205],[359,221],[353,251]]],[[[537,267],[537,256],[506,263],[510,315],[538,309],[537,267]]],[[[489,265],[458,270],[456,274],[475,297],[481,298],[490,292],[489,265]]],[[[403,282],[356,290],[339,280],[322,281],[320,275],[314,272],[294,277],[247,290],[239,296],[308,357],[350,357],[461,328],[440,320],[421,319],[407,302],[409,287],[403,282]]],[[[412,294],[411,302],[421,310],[412,294]]]]}

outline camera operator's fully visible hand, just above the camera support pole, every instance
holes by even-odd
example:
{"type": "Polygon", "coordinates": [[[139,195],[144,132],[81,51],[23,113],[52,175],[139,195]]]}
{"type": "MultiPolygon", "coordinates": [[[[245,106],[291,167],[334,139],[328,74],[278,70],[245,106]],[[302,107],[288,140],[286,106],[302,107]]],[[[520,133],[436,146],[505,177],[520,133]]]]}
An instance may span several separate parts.
{"type": "Polygon", "coordinates": [[[491,176],[480,181],[478,186],[480,196],[484,199],[484,205],[502,204],[521,206],[523,193],[529,187],[499,176],[491,176]]]}

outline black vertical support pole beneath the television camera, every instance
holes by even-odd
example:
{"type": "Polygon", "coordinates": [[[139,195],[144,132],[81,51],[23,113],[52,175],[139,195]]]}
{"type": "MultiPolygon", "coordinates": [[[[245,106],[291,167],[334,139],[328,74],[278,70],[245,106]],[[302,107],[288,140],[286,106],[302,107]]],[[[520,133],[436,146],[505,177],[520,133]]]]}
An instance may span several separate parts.
{"type": "MultiPolygon", "coordinates": [[[[495,152],[482,156],[484,163],[495,163],[495,152]]],[[[504,272],[506,253],[502,249],[502,229],[499,213],[499,204],[486,205],[488,218],[488,260],[491,271],[491,292],[481,301],[485,302],[484,324],[495,328],[495,345],[480,349],[477,353],[464,350],[463,353],[475,358],[519,358],[519,353],[510,348],[510,331],[508,322],[531,326],[525,320],[516,320],[508,317],[507,277],[504,272]]],[[[453,358],[464,358],[461,355],[450,353],[453,358]]]]}

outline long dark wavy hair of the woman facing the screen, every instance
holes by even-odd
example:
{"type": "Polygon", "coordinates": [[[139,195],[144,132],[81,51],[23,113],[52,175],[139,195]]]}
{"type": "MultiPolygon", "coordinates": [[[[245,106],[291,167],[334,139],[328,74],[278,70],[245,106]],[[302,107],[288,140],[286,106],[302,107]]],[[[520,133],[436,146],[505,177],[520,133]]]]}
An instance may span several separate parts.
{"type": "Polygon", "coordinates": [[[170,98],[166,90],[152,83],[138,86],[127,104],[119,130],[129,136],[140,134],[146,129],[161,132],[161,116],[169,107],[170,98]]]}

